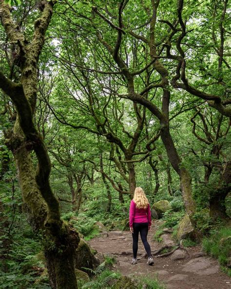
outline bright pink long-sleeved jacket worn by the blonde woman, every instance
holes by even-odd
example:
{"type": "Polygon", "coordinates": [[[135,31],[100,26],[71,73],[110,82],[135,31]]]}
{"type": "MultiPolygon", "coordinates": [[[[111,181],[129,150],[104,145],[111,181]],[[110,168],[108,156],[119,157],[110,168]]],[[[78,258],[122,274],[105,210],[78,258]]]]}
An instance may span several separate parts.
{"type": "Polygon", "coordinates": [[[135,202],[132,200],[129,210],[129,227],[133,227],[133,223],[148,223],[149,226],[152,224],[151,210],[148,204],[146,209],[137,209],[135,202]]]}

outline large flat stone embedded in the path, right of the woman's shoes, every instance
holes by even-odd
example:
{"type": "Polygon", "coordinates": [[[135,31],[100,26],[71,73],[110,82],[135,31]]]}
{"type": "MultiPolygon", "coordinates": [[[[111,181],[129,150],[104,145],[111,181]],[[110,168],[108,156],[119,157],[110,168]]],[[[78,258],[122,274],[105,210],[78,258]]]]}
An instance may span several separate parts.
{"type": "Polygon", "coordinates": [[[214,265],[214,262],[210,258],[199,257],[192,259],[183,265],[182,271],[194,272],[198,275],[210,275],[219,271],[219,266],[214,265]]]}

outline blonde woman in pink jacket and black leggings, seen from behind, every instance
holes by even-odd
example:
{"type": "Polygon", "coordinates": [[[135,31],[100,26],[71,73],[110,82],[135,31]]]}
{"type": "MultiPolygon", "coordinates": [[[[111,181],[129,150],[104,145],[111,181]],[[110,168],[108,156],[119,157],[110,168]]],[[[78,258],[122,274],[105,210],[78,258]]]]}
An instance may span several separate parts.
{"type": "Polygon", "coordinates": [[[138,236],[140,232],[141,240],[148,254],[147,265],[153,265],[153,257],[150,245],[147,241],[148,231],[151,229],[151,211],[148,199],[141,187],[135,188],[134,198],[131,201],[129,211],[129,226],[133,233],[133,260],[132,264],[137,264],[138,236]]]}

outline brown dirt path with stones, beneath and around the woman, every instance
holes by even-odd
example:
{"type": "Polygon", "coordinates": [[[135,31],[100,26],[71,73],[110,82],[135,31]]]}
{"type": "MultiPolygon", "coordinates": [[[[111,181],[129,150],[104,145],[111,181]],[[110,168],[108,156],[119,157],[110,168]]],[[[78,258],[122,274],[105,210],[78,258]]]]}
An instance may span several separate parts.
{"type": "MultiPolygon", "coordinates": [[[[156,221],[148,234],[148,241],[152,251],[161,247],[154,240],[154,233],[158,229],[156,221]]],[[[171,260],[171,255],[162,258],[154,257],[154,266],[146,265],[147,258],[142,258],[145,253],[139,237],[138,264],[131,265],[132,261],[132,233],[130,231],[109,231],[89,241],[89,244],[103,254],[116,257],[115,270],[131,278],[137,276],[156,277],[164,283],[167,289],[231,289],[231,278],[221,272],[217,260],[204,254],[195,257],[201,252],[201,247],[187,248],[187,257],[182,260],[171,260]]]]}

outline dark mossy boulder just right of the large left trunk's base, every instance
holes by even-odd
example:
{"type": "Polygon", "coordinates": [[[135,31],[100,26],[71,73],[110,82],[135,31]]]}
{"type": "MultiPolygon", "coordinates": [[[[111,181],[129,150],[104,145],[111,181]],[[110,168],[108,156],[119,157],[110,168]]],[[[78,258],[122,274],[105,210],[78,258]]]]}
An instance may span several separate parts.
{"type": "MultiPolygon", "coordinates": [[[[76,268],[83,271],[85,271],[83,267],[94,270],[98,265],[98,260],[95,258],[87,242],[80,239],[78,248],[76,249],[76,268]]],[[[89,274],[89,272],[87,273],[89,274]]]]}

